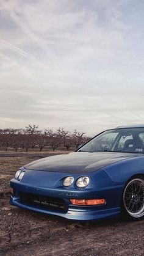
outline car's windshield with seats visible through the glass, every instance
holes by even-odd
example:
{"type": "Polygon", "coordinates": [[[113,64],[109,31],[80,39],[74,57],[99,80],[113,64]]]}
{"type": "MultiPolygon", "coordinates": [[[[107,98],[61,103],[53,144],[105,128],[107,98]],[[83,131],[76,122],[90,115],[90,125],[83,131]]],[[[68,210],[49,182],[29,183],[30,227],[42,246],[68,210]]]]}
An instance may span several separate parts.
{"type": "Polygon", "coordinates": [[[77,151],[144,153],[144,128],[104,131],[77,151]]]}

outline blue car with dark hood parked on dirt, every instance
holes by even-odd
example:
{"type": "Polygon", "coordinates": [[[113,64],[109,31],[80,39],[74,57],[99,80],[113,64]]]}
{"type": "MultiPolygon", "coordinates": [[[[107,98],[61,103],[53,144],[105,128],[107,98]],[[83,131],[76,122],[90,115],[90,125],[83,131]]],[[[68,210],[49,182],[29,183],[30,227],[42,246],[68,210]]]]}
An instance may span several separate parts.
{"type": "Polygon", "coordinates": [[[76,152],[21,167],[10,204],[90,221],[144,216],[144,125],[104,131],[76,152]]]}

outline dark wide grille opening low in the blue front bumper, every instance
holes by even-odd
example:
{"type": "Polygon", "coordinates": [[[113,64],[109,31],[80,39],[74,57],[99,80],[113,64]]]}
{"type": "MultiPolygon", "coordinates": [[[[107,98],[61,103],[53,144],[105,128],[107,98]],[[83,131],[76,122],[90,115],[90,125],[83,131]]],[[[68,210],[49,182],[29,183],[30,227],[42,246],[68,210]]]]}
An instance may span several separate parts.
{"type": "Polygon", "coordinates": [[[68,206],[63,199],[59,197],[48,197],[37,194],[20,192],[20,202],[31,207],[54,211],[68,211],[68,206]]]}

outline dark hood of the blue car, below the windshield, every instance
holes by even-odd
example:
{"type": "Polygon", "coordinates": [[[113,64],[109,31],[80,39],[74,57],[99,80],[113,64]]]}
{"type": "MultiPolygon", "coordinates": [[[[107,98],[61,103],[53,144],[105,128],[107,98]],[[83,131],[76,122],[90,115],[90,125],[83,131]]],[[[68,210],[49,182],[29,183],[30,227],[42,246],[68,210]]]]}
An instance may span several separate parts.
{"type": "Polygon", "coordinates": [[[49,156],[26,164],[25,169],[49,172],[86,174],[128,158],[142,156],[137,153],[74,152],[67,155],[49,156]]]}

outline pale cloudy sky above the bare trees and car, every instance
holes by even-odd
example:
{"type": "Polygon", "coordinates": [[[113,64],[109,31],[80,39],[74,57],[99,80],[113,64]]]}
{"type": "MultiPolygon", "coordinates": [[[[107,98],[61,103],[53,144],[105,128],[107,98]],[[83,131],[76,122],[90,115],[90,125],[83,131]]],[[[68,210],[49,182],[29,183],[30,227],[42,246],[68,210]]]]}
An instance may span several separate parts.
{"type": "Polygon", "coordinates": [[[143,0],[1,0],[0,124],[144,123],[143,0]]]}

